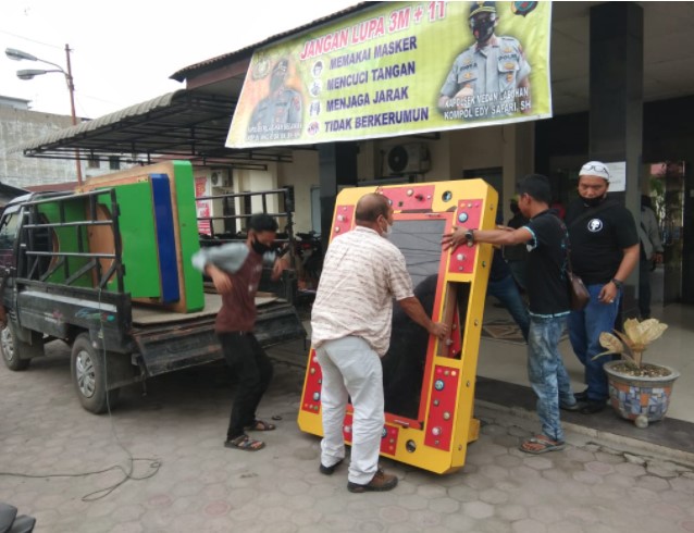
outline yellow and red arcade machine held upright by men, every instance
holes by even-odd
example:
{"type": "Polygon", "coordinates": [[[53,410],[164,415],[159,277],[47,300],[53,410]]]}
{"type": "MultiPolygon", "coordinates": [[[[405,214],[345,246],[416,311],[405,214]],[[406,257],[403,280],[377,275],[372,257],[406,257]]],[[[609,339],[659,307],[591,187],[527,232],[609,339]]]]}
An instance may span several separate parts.
{"type": "MultiPolygon", "coordinates": [[[[331,240],[355,224],[355,207],[367,193],[391,201],[389,236],[405,255],[417,296],[432,320],[450,324],[438,342],[394,306],[391,348],[383,358],[385,425],[381,455],[436,473],[464,464],[468,443],[479,436],[473,419],[482,315],[493,249],[461,245],[443,251],[454,226],[495,227],[498,195],[483,179],[344,189],[337,196],[331,240]]],[[[351,443],[351,406],[344,435],[351,443]]],[[[299,407],[301,431],[321,436],[321,368],[311,347],[299,407]]]]}

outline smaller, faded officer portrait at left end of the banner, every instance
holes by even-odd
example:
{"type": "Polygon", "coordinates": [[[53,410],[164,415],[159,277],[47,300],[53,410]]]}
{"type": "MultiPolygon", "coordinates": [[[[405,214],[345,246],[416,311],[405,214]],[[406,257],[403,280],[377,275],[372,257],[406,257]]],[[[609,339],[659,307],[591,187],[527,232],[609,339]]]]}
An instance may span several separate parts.
{"type": "Polygon", "coordinates": [[[289,61],[281,59],[272,67],[270,94],[260,100],[248,122],[248,140],[295,139],[301,134],[301,94],[286,85],[289,61]]]}

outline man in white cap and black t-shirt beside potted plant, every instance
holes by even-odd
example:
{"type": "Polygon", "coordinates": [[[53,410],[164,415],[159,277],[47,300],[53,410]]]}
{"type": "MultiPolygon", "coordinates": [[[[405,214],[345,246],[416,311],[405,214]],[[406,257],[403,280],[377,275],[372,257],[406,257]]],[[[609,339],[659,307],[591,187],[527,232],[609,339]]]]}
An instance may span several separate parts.
{"type": "Polygon", "coordinates": [[[609,170],[599,161],[579,172],[579,196],[569,204],[566,223],[571,240],[573,271],[583,278],[591,300],[582,311],[571,311],[569,338],[585,367],[587,388],[575,395],[580,412],[605,409],[608,398],[599,336],[615,329],[623,283],[639,263],[639,233],[631,212],[607,198],[609,170]]]}

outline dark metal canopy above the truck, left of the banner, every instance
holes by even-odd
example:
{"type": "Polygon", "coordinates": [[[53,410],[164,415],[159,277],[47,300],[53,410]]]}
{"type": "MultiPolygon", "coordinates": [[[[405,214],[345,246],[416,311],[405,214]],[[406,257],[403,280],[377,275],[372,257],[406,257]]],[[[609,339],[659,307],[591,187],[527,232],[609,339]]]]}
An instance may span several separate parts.
{"type": "Polygon", "coordinates": [[[288,148],[232,150],[224,147],[236,100],[181,89],[13,147],[30,158],[150,164],[185,159],[194,165],[264,169],[292,162],[288,148]]]}

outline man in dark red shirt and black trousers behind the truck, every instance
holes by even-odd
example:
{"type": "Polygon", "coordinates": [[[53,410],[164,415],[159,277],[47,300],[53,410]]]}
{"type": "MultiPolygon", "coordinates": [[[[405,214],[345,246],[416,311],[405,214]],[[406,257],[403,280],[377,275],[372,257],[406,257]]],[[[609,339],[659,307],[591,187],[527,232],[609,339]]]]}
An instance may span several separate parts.
{"type": "Polygon", "coordinates": [[[227,448],[257,451],[265,446],[246,431],[272,431],[274,424],[258,420],[256,409],[272,379],[272,362],[252,333],[256,324],[256,293],[262,275],[263,260],[274,261],[273,280],[285,263],[275,260],[272,244],[277,222],[269,214],[253,214],[248,221],[245,243],[203,248],[193,257],[193,264],[212,278],[222,296],[222,309],[214,331],[224,359],[238,376],[234,406],[226,432],[227,448]]]}

